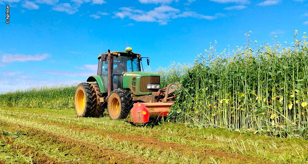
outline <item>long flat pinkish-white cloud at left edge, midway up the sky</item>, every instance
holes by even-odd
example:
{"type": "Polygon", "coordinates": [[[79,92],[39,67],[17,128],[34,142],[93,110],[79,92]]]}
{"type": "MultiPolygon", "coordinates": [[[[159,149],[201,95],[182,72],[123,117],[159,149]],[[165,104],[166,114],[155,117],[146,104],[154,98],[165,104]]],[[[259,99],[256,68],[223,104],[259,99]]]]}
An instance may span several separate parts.
{"type": "Polygon", "coordinates": [[[3,54],[2,62],[11,63],[11,62],[41,61],[46,59],[47,56],[48,54],[42,54],[42,55],[3,54]]]}

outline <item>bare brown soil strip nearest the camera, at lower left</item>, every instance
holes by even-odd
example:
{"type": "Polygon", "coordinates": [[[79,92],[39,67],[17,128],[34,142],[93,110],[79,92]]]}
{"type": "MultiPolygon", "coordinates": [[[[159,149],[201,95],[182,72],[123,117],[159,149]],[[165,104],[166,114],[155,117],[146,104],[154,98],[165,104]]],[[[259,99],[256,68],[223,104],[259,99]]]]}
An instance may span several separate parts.
{"type": "MultiPolygon", "coordinates": [[[[157,162],[151,159],[145,159],[141,158],[138,156],[134,155],[129,155],[129,154],[124,154],[121,152],[118,152],[117,150],[113,149],[107,149],[104,147],[98,147],[98,145],[94,143],[89,143],[89,142],[83,142],[79,141],[77,139],[73,138],[67,138],[58,134],[53,134],[50,132],[47,132],[45,130],[40,130],[37,128],[31,128],[28,126],[23,126],[11,122],[6,122],[6,121],[1,121],[8,126],[9,129],[16,130],[25,130],[26,136],[27,137],[38,137],[38,138],[43,138],[44,141],[52,141],[53,143],[56,144],[64,144],[64,145],[70,145],[71,149],[72,148],[78,148],[78,154],[79,155],[88,155],[89,151],[93,152],[91,154],[91,162],[102,162],[102,161],[107,161],[107,163],[127,163],[128,161],[131,161],[130,163],[132,164],[161,164],[161,162],[157,162]],[[99,156],[98,156],[99,152],[99,156]]],[[[2,125],[3,126],[3,125],[2,125]]],[[[47,157],[47,156],[46,156],[47,157]]],[[[64,162],[67,163],[67,162],[64,162]]],[[[70,162],[69,162],[70,163],[70,162]]]]}

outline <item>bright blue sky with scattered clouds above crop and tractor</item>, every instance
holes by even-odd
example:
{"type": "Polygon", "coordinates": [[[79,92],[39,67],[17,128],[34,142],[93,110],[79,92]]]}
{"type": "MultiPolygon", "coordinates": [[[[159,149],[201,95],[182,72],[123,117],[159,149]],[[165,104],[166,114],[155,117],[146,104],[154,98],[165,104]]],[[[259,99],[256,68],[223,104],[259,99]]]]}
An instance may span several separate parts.
{"type": "Polygon", "coordinates": [[[307,0],[0,0],[0,92],[74,84],[96,74],[97,56],[124,50],[151,70],[193,63],[246,42],[291,43],[308,32],[307,0]],[[6,24],[6,5],[10,6],[6,24]],[[277,38],[275,38],[277,36],[277,38]]]}

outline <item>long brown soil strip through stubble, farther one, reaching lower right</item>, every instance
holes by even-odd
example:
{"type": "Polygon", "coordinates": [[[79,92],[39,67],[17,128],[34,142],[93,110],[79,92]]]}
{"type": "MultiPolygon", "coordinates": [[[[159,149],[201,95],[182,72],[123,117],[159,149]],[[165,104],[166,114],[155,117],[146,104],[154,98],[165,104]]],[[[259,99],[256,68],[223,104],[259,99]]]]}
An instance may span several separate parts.
{"type": "Polygon", "coordinates": [[[47,125],[57,125],[57,126],[62,126],[66,127],[69,129],[74,129],[74,130],[79,130],[80,132],[98,132],[102,136],[111,136],[111,138],[116,141],[116,142],[121,142],[121,141],[129,141],[132,143],[138,143],[138,145],[143,146],[143,147],[154,147],[155,149],[159,150],[168,150],[172,149],[172,151],[176,152],[180,156],[189,156],[192,158],[195,158],[195,154],[197,154],[199,162],[202,161],[208,161],[210,156],[215,156],[219,159],[222,159],[224,161],[228,161],[229,163],[236,163],[236,162],[242,162],[242,163],[249,163],[249,162],[255,162],[255,163],[271,163],[274,164],[275,162],[268,161],[266,158],[255,158],[255,157],[250,157],[245,154],[232,154],[229,152],[225,152],[222,150],[216,150],[216,149],[201,149],[198,147],[193,147],[193,146],[186,146],[178,143],[173,143],[173,142],[163,142],[163,141],[158,141],[156,138],[153,138],[152,136],[148,137],[143,137],[141,134],[121,134],[118,132],[108,132],[104,130],[98,130],[95,128],[89,128],[89,127],[82,127],[82,126],[77,126],[77,125],[71,125],[71,124],[62,124],[59,122],[49,122],[45,120],[38,120],[41,123],[45,123],[47,125]]]}

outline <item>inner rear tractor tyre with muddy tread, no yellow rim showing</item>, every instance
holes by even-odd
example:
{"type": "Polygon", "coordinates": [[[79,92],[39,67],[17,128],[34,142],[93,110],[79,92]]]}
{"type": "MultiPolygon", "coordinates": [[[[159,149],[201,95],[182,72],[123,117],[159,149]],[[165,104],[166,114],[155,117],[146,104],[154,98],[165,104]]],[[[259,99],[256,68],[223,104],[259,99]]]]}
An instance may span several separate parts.
{"type": "Polygon", "coordinates": [[[95,106],[90,112],[90,117],[101,117],[105,111],[105,108],[107,108],[107,103],[106,101],[99,101],[99,98],[103,98],[103,95],[100,92],[99,85],[97,83],[90,84],[90,89],[92,93],[92,100],[95,101],[95,106]]]}

